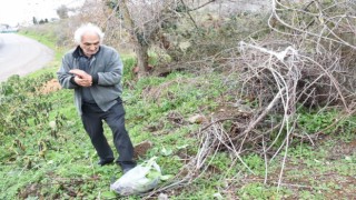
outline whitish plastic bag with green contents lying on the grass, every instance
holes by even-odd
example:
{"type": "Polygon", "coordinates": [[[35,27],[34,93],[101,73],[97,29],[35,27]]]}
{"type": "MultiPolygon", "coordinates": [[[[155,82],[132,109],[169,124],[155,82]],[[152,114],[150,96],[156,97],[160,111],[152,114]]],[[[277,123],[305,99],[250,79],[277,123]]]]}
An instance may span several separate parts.
{"type": "Polygon", "coordinates": [[[110,190],[121,196],[138,194],[149,191],[160,182],[161,171],[156,163],[157,157],[151,158],[125,173],[110,184],[110,190]]]}

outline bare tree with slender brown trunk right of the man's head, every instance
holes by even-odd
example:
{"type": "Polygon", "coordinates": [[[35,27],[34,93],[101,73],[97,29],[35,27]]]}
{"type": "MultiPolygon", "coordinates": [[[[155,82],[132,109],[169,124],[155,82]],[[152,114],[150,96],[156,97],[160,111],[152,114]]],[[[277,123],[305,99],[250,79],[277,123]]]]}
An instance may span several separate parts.
{"type": "MultiPolygon", "coordinates": [[[[201,1],[197,9],[214,1],[201,1]]],[[[130,34],[137,54],[138,77],[147,76],[151,69],[148,63],[148,51],[155,41],[162,40],[161,30],[166,24],[177,23],[184,17],[188,17],[194,22],[189,11],[195,9],[188,8],[188,4],[194,3],[186,3],[184,0],[110,0],[107,2],[111,8],[115,7],[113,11],[117,17],[123,20],[123,24],[130,34]]],[[[164,46],[167,47],[167,43],[164,46]]]]}

